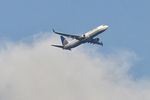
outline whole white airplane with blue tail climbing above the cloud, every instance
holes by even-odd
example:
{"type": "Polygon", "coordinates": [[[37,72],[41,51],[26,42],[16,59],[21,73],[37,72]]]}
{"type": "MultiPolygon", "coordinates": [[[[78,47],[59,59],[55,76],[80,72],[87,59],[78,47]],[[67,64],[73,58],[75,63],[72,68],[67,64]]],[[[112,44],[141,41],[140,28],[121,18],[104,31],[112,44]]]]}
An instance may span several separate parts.
{"type": "Polygon", "coordinates": [[[60,32],[56,32],[53,29],[53,32],[55,34],[60,35],[62,45],[51,45],[51,46],[62,48],[64,50],[71,50],[72,48],[75,48],[75,47],[77,47],[83,43],[91,43],[91,44],[97,44],[97,45],[103,46],[102,41],[99,42],[100,39],[94,38],[94,37],[101,34],[102,32],[104,32],[107,29],[108,29],[108,25],[100,25],[97,28],[95,28],[95,29],[93,29],[93,30],[81,35],[81,36],[60,33],[60,32]],[[72,38],[73,40],[67,41],[67,39],[65,37],[72,38]]]}

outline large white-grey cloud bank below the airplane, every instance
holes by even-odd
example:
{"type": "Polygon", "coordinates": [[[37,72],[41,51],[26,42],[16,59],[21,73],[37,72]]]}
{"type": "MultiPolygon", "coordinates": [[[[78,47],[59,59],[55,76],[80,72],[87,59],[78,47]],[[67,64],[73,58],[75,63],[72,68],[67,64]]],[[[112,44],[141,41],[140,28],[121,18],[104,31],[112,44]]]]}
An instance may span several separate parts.
{"type": "Polygon", "coordinates": [[[47,37],[0,50],[1,100],[150,100],[150,81],[129,74],[135,53],[64,51],[50,46],[56,37],[47,37]]]}

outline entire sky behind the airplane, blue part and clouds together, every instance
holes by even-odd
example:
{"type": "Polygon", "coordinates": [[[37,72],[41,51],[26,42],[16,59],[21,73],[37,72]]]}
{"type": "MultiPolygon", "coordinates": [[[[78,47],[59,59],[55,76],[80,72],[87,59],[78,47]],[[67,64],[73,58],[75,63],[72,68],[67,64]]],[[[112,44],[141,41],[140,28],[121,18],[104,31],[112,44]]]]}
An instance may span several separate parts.
{"type": "MultiPolygon", "coordinates": [[[[137,100],[136,96],[139,94],[141,94],[139,100],[148,100],[149,85],[147,84],[150,77],[150,56],[148,52],[150,51],[149,3],[149,0],[1,0],[0,98],[9,100],[14,97],[14,100],[19,100],[26,97],[25,99],[28,100],[30,100],[29,98],[37,100],[34,96],[36,93],[33,92],[38,87],[37,90],[44,90],[45,95],[48,96],[47,92],[52,93],[53,91],[49,89],[56,84],[56,87],[60,90],[59,96],[67,88],[67,91],[63,94],[64,99],[87,99],[85,95],[91,94],[91,92],[86,92],[81,96],[78,91],[84,92],[88,89],[94,91],[95,94],[99,92],[104,94],[102,98],[107,100],[109,97],[105,96],[105,92],[112,89],[116,91],[116,94],[119,93],[119,90],[122,90],[120,96],[126,94],[125,97],[132,100],[133,98],[137,100]],[[98,36],[102,39],[104,47],[86,44],[69,53],[50,47],[51,44],[60,43],[59,36],[52,33],[52,28],[60,32],[81,35],[101,24],[109,26],[106,32],[98,36]],[[26,42],[28,43],[26,44],[26,42]],[[22,52],[25,52],[25,54],[22,54],[22,52]],[[59,57],[59,54],[62,57],[59,57]],[[79,55],[82,55],[83,58],[79,59],[79,55]],[[33,59],[30,59],[32,57],[33,59]],[[61,63],[57,64],[57,60],[62,65],[61,63]],[[68,60],[69,65],[66,64],[68,60]],[[37,62],[39,62],[39,65],[36,64],[37,62]],[[85,63],[87,68],[81,67],[85,66],[82,62],[85,63]],[[25,66],[26,64],[28,67],[25,66]],[[33,70],[35,66],[37,66],[37,69],[33,70]],[[53,68],[53,66],[56,68],[53,68]],[[62,69],[62,66],[68,70],[62,69]],[[71,66],[71,68],[68,66],[71,66]],[[77,67],[76,69],[76,66],[81,68],[77,67]],[[94,68],[91,69],[93,66],[94,68]],[[112,67],[109,68],[108,66],[112,67]],[[41,67],[43,67],[43,70],[41,67]],[[58,70],[59,68],[63,71],[58,70]],[[55,73],[48,73],[51,70],[55,73]],[[104,71],[104,73],[95,72],[94,74],[94,71],[100,71],[100,73],[104,71]],[[33,74],[34,72],[35,74],[33,74]],[[85,74],[82,72],[85,72],[85,74]],[[29,73],[35,80],[32,80],[29,75],[26,76],[26,73],[29,73]],[[48,78],[49,75],[50,78],[48,78]],[[96,75],[98,76],[95,77],[96,75]],[[86,76],[89,79],[85,79],[86,76]],[[24,77],[25,80],[22,80],[21,77],[24,77]],[[93,77],[95,78],[93,79],[93,77]],[[44,78],[43,83],[40,83],[41,78],[44,78]],[[59,80],[59,78],[62,78],[62,80],[59,80]],[[94,81],[91,82],[92,80],[94,81]],[[135,80],[138,82],[136,83],[135,80]],[[23,84],[22,81],[27,85],[23,84]],[[101,83],[101,81],[104,82],[101,83]],[[114,86],[114,81],[119,87],[114,86]],[[39,83],[31,89],[33,95],[31,96],[28,91],[37,82],[39,83]],[[67,85],[64,83],[62,86],[57,84],[58,82],[67,82],[67,85]],[[85,82],[89,82],[89,84],[84,87],[85,82]],[[51,86],[48,86],[48,83],[51,86]],[[101,84],[104,88],[99,87],[98,84],[101,84]],[[68,85],[70,87],[67,87],[68,85]],[[93,87],[94,85],[95,87],[93,87]],[[46,89],[46,86],[48,86],[48,89],[46,89]],[[110,89],[105,88],[107,86],[110,89]],[[95,89],[97,87],[99,88],[95,89]],[[25,88],[26,90],[23,91],[25,88]],[[101,89],[105,92],[100,91],[101,89]],[[141,91],[139,91],[140,89],[141,91]],[[68,97],[67,94],[70,91],[71,97],[68,97]],[[134,93],[134,95],[130,96],[127,92],[134,93]],[[17,98],[16,94],[18,93],[20,93],[20,97],[17,98]],[[24,95],[25,93],[27,95],[24,95]]],[[[40,94],[40,92],[38,93],[40,94]]],[[[54,97],[50,96],[53,98],[49,98],[49,96],[47,98],[54,99],[55,95],[54,97]]],[[[41,94],[41,97],[43,96],[44,94],[41,94]]],[[[93,94],[89,96],[93,100],[101,98],[93,94]]],[[[112,97],[116,99],[116,96],[112,97]]],[[[59,99],[55,98],[55,100],[59,99]]]]}

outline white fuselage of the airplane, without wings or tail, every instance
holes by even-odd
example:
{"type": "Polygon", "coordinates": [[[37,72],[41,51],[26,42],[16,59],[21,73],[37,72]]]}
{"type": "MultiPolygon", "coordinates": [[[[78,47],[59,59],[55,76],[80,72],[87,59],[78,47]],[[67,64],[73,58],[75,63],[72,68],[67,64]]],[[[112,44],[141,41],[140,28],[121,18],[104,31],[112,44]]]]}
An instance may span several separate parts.
{"type": "Polygon", "coordinates": [[[64,49],[69,49],[70,50],[71,48],[79,46],[82,43],[86,43],[86,41],[88,39],[92,39],[93,37],[99,35],[100,33],[104,32],[107,29],[108,29],[107,25],[98,26],[97,28],[83,34],[82,35],[82,37],[84,37],[83,39],[81,39],[81,40],[73,39],[68,44],[64,45],[64,49]]]}

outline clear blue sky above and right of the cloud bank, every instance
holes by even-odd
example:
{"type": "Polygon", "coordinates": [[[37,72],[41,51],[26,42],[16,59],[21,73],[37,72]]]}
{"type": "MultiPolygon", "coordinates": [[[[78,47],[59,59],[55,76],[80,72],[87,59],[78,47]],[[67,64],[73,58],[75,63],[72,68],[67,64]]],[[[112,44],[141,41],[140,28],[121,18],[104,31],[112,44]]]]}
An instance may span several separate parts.
{"type": "Polygon", "coordinates": [[[18,41],[52,28],[82,34],[107,24],[100,52],[135,52],[140,60],[134,75],[149,77],[149,4],[149,0],[1,0],[0,39],[18,41]]]}

